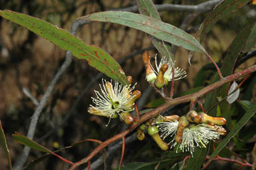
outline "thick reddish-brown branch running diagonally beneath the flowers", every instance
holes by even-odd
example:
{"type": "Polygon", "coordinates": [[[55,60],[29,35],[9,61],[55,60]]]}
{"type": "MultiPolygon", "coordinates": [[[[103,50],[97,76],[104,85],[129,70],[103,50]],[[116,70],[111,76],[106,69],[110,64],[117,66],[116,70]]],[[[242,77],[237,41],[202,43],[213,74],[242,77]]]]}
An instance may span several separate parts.
{"type": "Polygon", "coordinates": [[[208,92],[210,92],[216,88],[219,88],[220,86],[222,86],[223,84],[226,84],[227,82],[231,82],[233,80],[236,80],[237,78],[241,78],[241,77],[246,76],[247,74],[251,74],[255,71],[256,71],[256,65],[253,65],[241,72],[232,74],[231,76],[227,76],[225,78],[222,78],[218,82],[215,82],[214,84],[210,84],[209,86],[206,86],[205,88],[203,88],[202,90],[200,90],[198,92],[195,92],[194,94],[188,94],[188,95],[182,96],[180,98],[174,98],[172,100],[168,100],[165,104],[162,104],[162,106],[159,106],[159,107],[155,108],[154,110],[151,110],[150,112],[143,114],[138,120],[136,120],[133,124],[131,124],[131,126],[129,126],[129,128],[127,130],[125,130],[122,133],[115,135],[115,137],[107,139],[107,141],[104,141],[103,143],[101,143],[101,145],[99,145],[97,148],[95,148],[94,151],[92,151],[92,153],[90,153],[87,157],[74,163],[74,165],[72,165],[70,167],[70,170],[76,169],[80,165],[87,163],[88,161],[90,161],[90,159],[92,159],[92,157],[94,157],[97,153],[99,153],[99,151],[101,151],[102,149],[107,147],[107,145],[113,143],[114,141],[122,139],[127,134],[131,133],[131,131],[133,131],[137,126],[139,126],[139,124],[145,122],[149,118],[153,118],[153,117],[157,116],[158,114],[160,114],[161,112],[163,112],[164,110],[169,108],[170,106],[174,106],[176,104],[180,104],[180,103],[184,103],[184,102],[189,102],[191,100],[196,100],[197,98],[204,96],[208,92]]]}

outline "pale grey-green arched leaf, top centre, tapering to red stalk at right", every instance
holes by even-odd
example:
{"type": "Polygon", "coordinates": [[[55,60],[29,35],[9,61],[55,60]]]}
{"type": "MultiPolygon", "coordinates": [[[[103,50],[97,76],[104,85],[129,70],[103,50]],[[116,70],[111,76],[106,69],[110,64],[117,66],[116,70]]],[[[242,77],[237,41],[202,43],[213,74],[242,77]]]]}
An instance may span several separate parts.
{"type": "Polygon", "coordinates": [[[79,19],[119,23],[121,25],[133,27],[149,33],[158,39],[168,41],[176,46],[182,46],[188,50],[205,53],[204,48],[198,43],[198,41],[196,41],[196,39],[194,39],[194,37],[192,37],[192,35],[178,27],[170,25],[169,23],[164,23],[158,19],[145,15],[124,11],[106,11],[92,13],[90,15],[80,17],[79,19]]]}

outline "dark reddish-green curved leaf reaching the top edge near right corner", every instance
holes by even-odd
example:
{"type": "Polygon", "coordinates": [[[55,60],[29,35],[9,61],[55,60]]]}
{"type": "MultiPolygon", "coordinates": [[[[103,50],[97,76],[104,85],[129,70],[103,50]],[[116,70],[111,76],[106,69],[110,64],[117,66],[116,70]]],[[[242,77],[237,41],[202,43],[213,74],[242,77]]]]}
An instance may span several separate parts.
{"type": "Polygon", "coordinates": [[[202,40],[217,21],[231,15],[237,11],[237,9],[247,5],[250,1],[251,0],[225,0],[219,3],[202,22],[197,33],[197,35],[199,35],[198,39],[202,40]]]}

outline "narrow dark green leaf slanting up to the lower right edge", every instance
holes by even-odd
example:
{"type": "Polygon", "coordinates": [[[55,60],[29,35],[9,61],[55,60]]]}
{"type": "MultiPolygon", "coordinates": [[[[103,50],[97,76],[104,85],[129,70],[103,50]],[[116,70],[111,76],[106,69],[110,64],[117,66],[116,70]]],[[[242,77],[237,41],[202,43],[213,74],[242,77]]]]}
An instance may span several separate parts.
{"type": "Polygon", "coordinates": [[[243,126],[250,120],[250,118],[255,114],[256,112],[256,104],[253,104],[249,110],[243,115],[243,117],[237,122],[235,127],[232,129],[232,131],[223,139],[218,147],[216,147],[215,151],[210,155],[210,159],[207,161],[207,163],[210,163],[216,155],[229,143],[231,138],[233,138],[239,131],[242,129],[243,126]]]}

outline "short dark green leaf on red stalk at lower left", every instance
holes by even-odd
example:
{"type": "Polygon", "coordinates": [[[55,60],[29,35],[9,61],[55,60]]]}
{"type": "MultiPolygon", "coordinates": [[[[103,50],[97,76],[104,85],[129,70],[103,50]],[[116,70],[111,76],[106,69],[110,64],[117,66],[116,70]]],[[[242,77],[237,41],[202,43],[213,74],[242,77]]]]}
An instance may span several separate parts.
{"type": "Polygon", "coordinates": [[[42,145],[36,143],[35,141],[32,141],[31,139],[28,139],[27,137],[25,137],[24,135],[22,135],[21,133],[17,133],[15,132],[13,134],[13,138],[18,142],[21,143],[22,145],[25,145],[27,147],[30,147],[32,149],[36,149],[38,151],[42,151],[44,153],[52,153],[52,151],[46,149],[45,147],[43,147],[42,145]]]}

